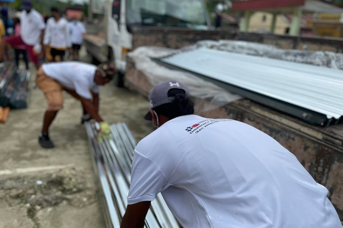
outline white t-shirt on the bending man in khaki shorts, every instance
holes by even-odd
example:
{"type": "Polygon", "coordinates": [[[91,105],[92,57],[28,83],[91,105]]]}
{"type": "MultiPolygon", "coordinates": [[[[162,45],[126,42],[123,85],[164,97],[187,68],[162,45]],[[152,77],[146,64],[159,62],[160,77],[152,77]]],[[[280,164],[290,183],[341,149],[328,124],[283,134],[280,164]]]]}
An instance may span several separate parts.
{"type": "Polygon", "coordinates": [[[67,89],[74,90],[81,97],[92,98],[99,93],[99,86],[94,82],[96,66],[80,62],[48,63],[42,66],[44,73],[67,89]]]}

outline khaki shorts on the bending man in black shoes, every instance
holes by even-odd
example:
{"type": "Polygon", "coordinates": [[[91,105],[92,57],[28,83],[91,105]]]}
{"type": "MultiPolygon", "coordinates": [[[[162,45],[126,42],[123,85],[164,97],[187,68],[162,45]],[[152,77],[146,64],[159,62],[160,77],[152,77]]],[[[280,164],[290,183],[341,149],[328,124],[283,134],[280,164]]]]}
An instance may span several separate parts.
{"type": "Polygon", "coordinates": [[[58,111],[63,107],[62,85],[47,76],[42,67],[37,71],[36,85],[43,91],[48,101],[47,111],[58,111]]]}

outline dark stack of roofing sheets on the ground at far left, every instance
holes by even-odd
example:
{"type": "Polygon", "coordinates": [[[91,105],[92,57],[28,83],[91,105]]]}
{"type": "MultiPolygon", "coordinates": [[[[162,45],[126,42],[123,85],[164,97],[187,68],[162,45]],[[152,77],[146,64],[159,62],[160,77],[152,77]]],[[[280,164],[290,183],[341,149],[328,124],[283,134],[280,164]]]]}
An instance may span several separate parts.
{"type": "Polygon", "coordinates": [[[12,62],[0,67],[0,106],[26,108],[30,73],[20,71],[12,62]]]}

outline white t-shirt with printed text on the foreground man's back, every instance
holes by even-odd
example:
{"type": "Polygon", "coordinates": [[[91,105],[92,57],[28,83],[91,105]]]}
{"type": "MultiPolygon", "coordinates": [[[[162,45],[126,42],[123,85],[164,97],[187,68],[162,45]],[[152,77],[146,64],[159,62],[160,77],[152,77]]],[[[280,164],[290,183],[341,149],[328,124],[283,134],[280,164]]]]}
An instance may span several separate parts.
{"type": "Polygon", "coordinates": [[[185,228],[342,228],[292,153],[233,120],[182,116],[141,140],[128,203],[159,192],[185,228]]]}

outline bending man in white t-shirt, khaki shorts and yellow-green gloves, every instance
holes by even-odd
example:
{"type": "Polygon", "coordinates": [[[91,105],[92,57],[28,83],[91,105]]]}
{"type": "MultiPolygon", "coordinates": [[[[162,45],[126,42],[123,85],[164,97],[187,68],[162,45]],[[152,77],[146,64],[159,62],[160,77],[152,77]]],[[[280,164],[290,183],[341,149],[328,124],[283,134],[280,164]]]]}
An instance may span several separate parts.
{"type": "Polygon", "coordinates": [[[99,131],[109,134],[109,125],[99,116],[99,85],[110,82],[116,74],[112,64],[100,64],[98,67],[81,62],[61,62],[43,64],[37,72],[36,85],[43,91],[48,108],[44,115],[39,144],[44,148],[53,148],[49,138],[49,127],[57,112],[63,107],[62,91],[66,91],[80,100],[85,116],[99,123],[99,131]],[[89,118],[90,118],[89,117],[89,118]]]}

